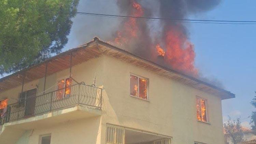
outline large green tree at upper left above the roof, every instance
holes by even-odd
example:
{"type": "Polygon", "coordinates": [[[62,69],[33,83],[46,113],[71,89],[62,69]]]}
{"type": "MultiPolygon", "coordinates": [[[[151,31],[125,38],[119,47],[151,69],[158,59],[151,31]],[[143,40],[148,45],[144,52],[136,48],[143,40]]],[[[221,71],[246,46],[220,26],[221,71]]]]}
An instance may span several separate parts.
{"type": "Polygon", "coordinates": [[[58,54],[79,0],[0,0],[0,74],[58,54]]]}

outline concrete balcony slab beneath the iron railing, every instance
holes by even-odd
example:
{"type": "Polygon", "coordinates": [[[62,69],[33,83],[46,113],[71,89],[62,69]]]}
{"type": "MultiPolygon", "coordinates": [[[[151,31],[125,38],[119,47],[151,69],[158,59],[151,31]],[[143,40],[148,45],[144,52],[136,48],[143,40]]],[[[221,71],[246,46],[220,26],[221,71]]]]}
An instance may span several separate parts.
{"type": "Polygon", "coordinates": [[[77,105],[42,115],[5,123],[0,126],[1,144],[14,144],[29,129],[52,127],[69,120],[101,116],[102,111],[91,106],[77,105]]]}

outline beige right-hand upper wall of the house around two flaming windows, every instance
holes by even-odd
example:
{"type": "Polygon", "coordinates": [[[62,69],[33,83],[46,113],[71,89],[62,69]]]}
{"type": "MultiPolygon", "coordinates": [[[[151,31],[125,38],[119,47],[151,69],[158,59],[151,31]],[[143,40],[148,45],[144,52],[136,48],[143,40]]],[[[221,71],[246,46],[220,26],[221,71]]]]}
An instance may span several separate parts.
{"type": "Polygon", "coordinates": [[[174,144],[224,143],[222,105],[217,96],[107,56],[104,89],[106,123],[172,136],[174,144]],[[130,96],[130,73],[149,79],[149,101],[130,96]],[[207,99],[210,124],[197,121],[196,96],[207,99]]]}

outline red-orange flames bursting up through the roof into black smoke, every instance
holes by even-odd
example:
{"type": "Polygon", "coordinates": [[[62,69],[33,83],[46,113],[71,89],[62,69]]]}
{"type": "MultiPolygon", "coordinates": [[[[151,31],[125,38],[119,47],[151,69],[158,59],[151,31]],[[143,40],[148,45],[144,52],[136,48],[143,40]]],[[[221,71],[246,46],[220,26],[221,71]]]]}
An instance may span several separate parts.
{"type": "MultiPolygon", "coordinates": [[[[127,6],[127,15],[135,17],[146,16],[145,10],[147,9],[144,9],[138,1],[122,2],[127,6]]],[[[119,1],[119,3],[122,2],[119,1]]],[[[125,19],[120,29],[116,31],[111,43],[124,47],[136,47],[135,53],[150,58],[153,61],[158,56],[163,57],[163,61],[160,64],[167,65],[174,70],[189,75],[198,76],[198,70],[194,66],[194,45],[188,41],[187,35],[184,32],[184,26],[180,22],[164,23],[161,40],[157,36],[153,36],[155,37],[154,39],[157,39],[156,42],[153,42],[150,39],[150,34],[145,32],[144,27],[147,27],[145,23],[145,21],[143,23],[143,20],[138,18],[130,17],[125,19]]]]}

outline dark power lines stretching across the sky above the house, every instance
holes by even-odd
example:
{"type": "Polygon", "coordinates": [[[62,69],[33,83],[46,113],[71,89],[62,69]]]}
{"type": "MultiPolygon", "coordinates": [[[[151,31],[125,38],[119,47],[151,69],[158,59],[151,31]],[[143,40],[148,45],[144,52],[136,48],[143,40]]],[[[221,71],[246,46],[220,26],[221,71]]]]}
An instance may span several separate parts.
{"type": "MultiPolygon", "coordinates": [[[[21,7],[21,6],[15,6],[15,5],[5,5],[0,4],[2,6],[12,6],[12,7],[18,7],[18,8],[29,8],[27,7],[21,7]]],[[[46,10],[46,11],[55,11],[55,10],[49,10],[49,9],[41,9],[41,8],[35,8],[33,9],[38,10],[46,10]]],[[[65,10],[58,10],[58,11],[65,11],[65,10]]],[[[68,11],[67,11],[68,12],[68,11]]],[[[162,18],[162,17],[138,17],[138,16],[125,16],[125,15],[111,15],[111,14],[99,14],[99,13],[87,13],[87,12],[76,12],[76,14],[80,15],[87,15],[87,16],[100,16],[100,17],[110,17],[110,18],[137,18],[137,19],[144,19],[144,20],[157,20],[157,21],[178,21],[181,23],[199,23],[199,24],[233,24],[233,25],[256,25],[256,21],[253,20],[210,20],[210,19],[179,19],[179,18],[162,18]]]]}

